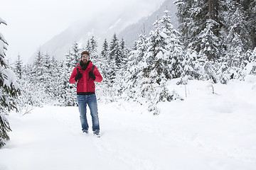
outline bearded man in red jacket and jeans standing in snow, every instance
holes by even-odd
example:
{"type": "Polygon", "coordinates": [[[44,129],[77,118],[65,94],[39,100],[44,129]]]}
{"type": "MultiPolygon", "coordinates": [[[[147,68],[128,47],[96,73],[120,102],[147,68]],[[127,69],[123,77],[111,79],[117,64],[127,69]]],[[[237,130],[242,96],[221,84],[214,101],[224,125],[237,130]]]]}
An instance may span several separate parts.
{"type": "Polygon", "coordinates": [[[92,116],[92,131],[93,134],[100,137],[100,123],[97,113],[97,98],[95,96],[95,82],[102,81],[102,76],[90,61],[90,53],[84,51],[81,53],[81,61],[73,69],[70,77],[70,83],[77,84],[77,99],[78,108],[80,112],[80,121],[82,125],[82,132],[88,133],[88,123],[86,117],[87,104],[90,108],[90,115],[92,116]]]}

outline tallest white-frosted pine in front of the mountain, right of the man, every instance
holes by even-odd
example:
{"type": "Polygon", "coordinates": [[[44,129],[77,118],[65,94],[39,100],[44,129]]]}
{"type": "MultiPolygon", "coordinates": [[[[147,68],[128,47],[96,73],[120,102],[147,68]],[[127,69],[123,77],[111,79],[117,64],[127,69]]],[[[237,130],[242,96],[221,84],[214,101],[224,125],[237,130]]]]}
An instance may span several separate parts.
{"type": "Polygon", "coordinates": [[[143,74],[138,74],[141,80],[138,85],[140,86],[139,89],[141,89],[141,96],[149,101],[149,105],[154,104],[152,107],[149,107],[149,111],[158,114],[159,112],[155,106],[159,101],[164,101],[164,97],[159,96],[159,94],[163,94],[160,93],[161,90],[166,90],[161,89],[163,87],[161,82],[163,82],[163,79],[172,78],[170,71],[172,71],[173,67],[169,64],[171,58],[169,42],[171,40],[170,36],[166,35],[168,31],[165,30],[166,28],[161,29],[161,19],[159,18],[157,18],[154,26],[156,30],[151,31],[149,34],[148,48],[144,59],[141,61],[146,61],[146,66],[142,70],[143,74]],[[154,103],[152,103],[153,101],[154,103]]]}

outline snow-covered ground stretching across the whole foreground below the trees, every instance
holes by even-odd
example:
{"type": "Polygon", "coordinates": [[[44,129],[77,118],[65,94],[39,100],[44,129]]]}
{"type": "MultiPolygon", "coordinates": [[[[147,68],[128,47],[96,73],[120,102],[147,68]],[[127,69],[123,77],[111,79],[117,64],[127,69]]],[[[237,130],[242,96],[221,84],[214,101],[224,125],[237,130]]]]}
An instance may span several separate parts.
{"type": "MultiPolygon", "coordinates": [[[[159,103],[159,115],[137,103],[99,103],[101,137],[82,134],[78,108],[45,106],[10,113],[11,140],[1,170],[256,169],[256,81],[169,83],[184,101],[159,103]]],[[[88,120],[91,126],[90,116],[88,120]]]]}

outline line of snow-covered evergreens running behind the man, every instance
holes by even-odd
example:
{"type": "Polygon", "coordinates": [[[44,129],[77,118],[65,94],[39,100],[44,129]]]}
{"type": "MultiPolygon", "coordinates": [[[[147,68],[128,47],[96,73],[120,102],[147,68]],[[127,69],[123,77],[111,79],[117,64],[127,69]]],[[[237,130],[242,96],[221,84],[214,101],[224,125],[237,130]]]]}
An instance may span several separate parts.
{"type": "MultiPolygon", "coordinates": [[[[87,40],[85,47],[79,47],[78,42],[73,42],[65,55],[65,60],[57,61],[54,57],[50,59],[47,53],[42,54],[38,51],[34,63],[23,67],[23,79],[18,79],[21,84],[27,84],[22,92],[24,95],[21,95],[26,97],[21,101],[33,106],[43,106],[45,103],[76,106],[75,84],[70,84],[68,80],[73,68],[80,62],[80,53],[83,50],[90,52],[93,64],[103,76],[102,83],[97,84],[100,101],[132,99],[148,105],[149,111],[154,114],[159,113],[156,103],[180,98],[176,91],[168,91],[166,82],[170,79],[180,79],[178,84],[187,84],[189,79],[226,84],[230,79],[243,80],[247,74],[255,74],[255,50],[251,34],[247,34],[246,40],[246,43],[250,42],[250,46],[238,40],[245,39],[242,36],[245,37],[246,34],[242,31],[236,33],[233,40],[227,40],[229,36],[224,35],[230,33],[217,31],[221,29],[215,27],[213,19],[217,22],[221,21],[221,18],[214,16],[216,13],[210,14],[213,9],[206,8],[206,4],[200,8],[200,3],[194,3],[193,8],[188,6],[188,1],[176,1],[176,4],[181,22],[179,31],[174,29],[169,11],[166,10],[164,15],[153,23],[155,30],[151,30],[149,35],[143,31],[132,49],[126,46],[123,38],[119,40],[114,33],[112,40],[107,42],[105,39],[101,48],[98,47],[94,36],[87,40]],[[193,13],[188,15],[188,9],[193,13]],[[182,11],[188,13],[181,15],[182,11]],[[202,11],[205,13],[202,14],[202,11]],[[195,15],[198,18],[189,18],[195,15]],[[205,18],[204,22],[202,18],[205,18]],[[192,26],[192,23],[195,25],[192,26]],[[185,25],[191,27],[190,31],[184,30],[188,29],[185,25]],[[197,33],[193,32],[196,30],[197,33]],[[239,45],[231,43],[238,41],[239,45]]],[[[241,10],[240,8],[242,7],[238,6],[235,11],[241,10]]],[[[220,15],[220,10],[218,13],[220,15]]],[[[246,28],[251,29],[249,26],[246,28]]],[[[18,60],[14,68],[17,74],[22,72],[20,62],[21,60],[18,60]]],[[[26,106],[25,103],[21,106],[26,106]]]]}

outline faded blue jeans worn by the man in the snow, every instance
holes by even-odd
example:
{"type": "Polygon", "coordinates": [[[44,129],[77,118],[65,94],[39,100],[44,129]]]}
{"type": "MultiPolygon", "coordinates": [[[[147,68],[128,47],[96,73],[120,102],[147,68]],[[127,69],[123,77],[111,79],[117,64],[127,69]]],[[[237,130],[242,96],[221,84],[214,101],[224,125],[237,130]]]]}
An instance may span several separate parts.
{"type": "Polygon", "coordinates": [[[95,94],[90,95],[78,95],[78,108],[80,112],[80,121],[82,125],[82,131],[88,130],[89,126],[87,123],[86,111],[87,104],[90,108],[90,115],[92,116],[92,130],[97,133],[100,132],[100,123],[97,113],[97,98],[95,94]]]}

